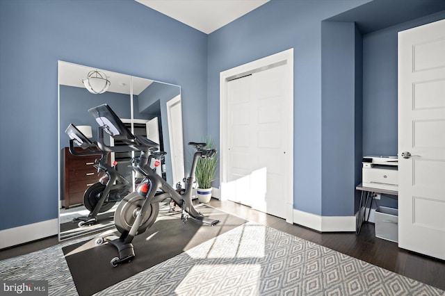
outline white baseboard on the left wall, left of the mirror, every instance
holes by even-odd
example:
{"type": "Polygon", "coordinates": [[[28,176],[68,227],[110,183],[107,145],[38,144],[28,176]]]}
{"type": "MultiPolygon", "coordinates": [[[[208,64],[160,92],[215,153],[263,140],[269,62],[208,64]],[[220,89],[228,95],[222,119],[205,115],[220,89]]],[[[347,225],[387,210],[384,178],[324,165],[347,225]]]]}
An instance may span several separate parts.
{"type": "Polygon", "coordinates": [[[0,249],[47,238],[58,233],[58,219],[13,227],[0,231],[0,249]]]}

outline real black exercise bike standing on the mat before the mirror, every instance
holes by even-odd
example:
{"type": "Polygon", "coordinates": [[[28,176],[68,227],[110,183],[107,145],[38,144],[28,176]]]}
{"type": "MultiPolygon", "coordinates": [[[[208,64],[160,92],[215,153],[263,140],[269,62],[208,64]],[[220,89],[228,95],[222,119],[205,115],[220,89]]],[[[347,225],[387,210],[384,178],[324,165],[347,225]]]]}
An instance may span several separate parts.
{"type": "MultiPolygon", "coordinates": [[[[218,224],[219,220],[205,217],[202,213],[198,212],[192,202],[192,190],[195,181],[197,160],[199,158],[213,157],[216,154],[215,149],[208,149],[205,143],[189,143],[189,145],[192,145],[196,149],[193,156],[193,165],[190,176],[186,181],[186,189],[179,189],[177,191],[149,167],[149,158],[155,158],[156,161],[161,161],[165,156],[165,152],[156,151],[159,149],[158,144],[147,140],[147,138],[143,136],[130,133],[127,127],[122,124],[119,117],[115,115],[113,110],[106,104],[91,108],[88,111],[95,116],[97,123],[101,126],[101,131],[105,131],[113,138],[118,138],[133,147],[133,149],[140,151],[138,164],[133,166],[132,169],[145,176],[144,181],[138,185],[136,191],[124,197],[118,208],[116,208],[114,222],[119,233],[103,233],[95,240],[96,245],[108,242],[108,244],[118,249],[119,256],[111,260],[113,267],[130,262],[134,258],[135,252],[131,243],[133,238],[145,232],[154,224],[159,213],[159,202],[165,199],[171,198],[181,208],[181,220],[184,223],[190,216],[194,220],[204,224],[211,226],[218,224]]],[[[99,149],[104,151],[107,149],[115,149],[115,147],[107,147],[100,139],[101,137],[99,137],[99,141],[97,142],[99,149]]]]}

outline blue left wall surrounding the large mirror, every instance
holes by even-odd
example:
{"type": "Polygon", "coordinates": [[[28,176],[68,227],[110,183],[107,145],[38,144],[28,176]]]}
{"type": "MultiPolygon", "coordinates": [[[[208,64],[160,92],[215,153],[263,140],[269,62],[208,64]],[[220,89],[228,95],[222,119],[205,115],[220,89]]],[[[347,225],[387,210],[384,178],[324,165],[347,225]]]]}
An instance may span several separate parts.
{"type": "Polygon", "coordinates": [[[58,217],[58,60],[181,85],[188,142],[206,56],[206,34],[136,1],[0,0],[0,229],[58,217]]]}

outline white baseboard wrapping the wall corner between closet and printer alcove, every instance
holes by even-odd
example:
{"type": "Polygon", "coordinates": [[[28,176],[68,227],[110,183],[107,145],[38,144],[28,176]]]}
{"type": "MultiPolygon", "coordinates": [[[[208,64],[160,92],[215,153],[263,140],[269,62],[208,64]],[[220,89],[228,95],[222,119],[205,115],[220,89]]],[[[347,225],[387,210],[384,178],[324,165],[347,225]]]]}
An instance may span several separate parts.
{"type": "Polygon", "coordinates": [[[320,232],[355,231],[355,216],[321,216],[293,209],[293,223],[320,232]]]}

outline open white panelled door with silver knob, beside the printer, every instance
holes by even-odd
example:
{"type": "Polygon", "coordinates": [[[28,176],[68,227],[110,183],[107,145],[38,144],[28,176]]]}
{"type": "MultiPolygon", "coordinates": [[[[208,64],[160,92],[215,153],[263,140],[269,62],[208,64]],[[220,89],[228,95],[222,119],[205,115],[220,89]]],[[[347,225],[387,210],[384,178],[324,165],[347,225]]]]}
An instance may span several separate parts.
{"type": "Polygon", "coordinates": [[[445,259],[445,20],[398,34],[398,151],[398,245],[445,259]]]}

